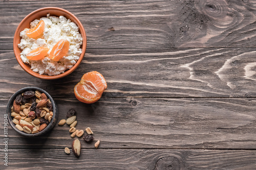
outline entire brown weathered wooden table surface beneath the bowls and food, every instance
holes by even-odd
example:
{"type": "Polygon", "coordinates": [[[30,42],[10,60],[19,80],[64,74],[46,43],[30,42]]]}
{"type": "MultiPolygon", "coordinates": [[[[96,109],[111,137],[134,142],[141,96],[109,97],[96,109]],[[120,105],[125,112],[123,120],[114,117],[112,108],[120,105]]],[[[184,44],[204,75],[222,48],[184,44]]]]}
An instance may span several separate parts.
{"type": "Polygon", "coordinates": [[[8,166],[0,169],[255,169],[256,1],[1,1],[1,158],[4,113],[20,88],[47,90],[63,119],[78,112],[81,156],[65,154],[69,127],[26,138],[8,129],[8,166]],[[17,63],[18,23],[42,7],[75,14],[87,33],[80,66],[58,80],[30,76],[17,63]],[[73,88],[97,70],[108,89],[94,104],[73,88]]]}

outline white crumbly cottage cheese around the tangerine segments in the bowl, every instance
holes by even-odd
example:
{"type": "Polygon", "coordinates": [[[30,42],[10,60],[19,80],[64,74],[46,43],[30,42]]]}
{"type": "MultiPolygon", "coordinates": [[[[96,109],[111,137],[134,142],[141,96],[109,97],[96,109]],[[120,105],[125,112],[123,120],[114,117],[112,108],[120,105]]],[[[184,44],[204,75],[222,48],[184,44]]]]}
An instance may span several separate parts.
{"type": "MultiPolygon", "coordinates": [[[[23,50],[22,53],[20,53],[20,58],[24,63],[30,64],[31,69],[38,72],[40,75],[59,75],[67,69],[72,68],[79,59],[82,53],[80,47],[82,44],[82,36],[78,32],[76,24],[64,16],[56,17],[47,15],[47,17],[42,17],[40,20],[44,20],[45,22],[44,39],[29,38],[26,35],[26,32],[29,30],[28,28],[20,32],[20,37],[22,37],[22,39],[20,40],[18,47],[23,50]],[[68,40],[70,46],[68,54],[65,57],[62,57],[58,62],[52,61],[48,57],[37,61],[29,60],[26,57],[30,51],[35,50],[35,48],[39,46],[47,46],[49,48],[49,54],[53,46],[60,39],[68,40]]],[[[30,28],[34,28],[40,20],[33,20],[30,23],[30,28]]]]}

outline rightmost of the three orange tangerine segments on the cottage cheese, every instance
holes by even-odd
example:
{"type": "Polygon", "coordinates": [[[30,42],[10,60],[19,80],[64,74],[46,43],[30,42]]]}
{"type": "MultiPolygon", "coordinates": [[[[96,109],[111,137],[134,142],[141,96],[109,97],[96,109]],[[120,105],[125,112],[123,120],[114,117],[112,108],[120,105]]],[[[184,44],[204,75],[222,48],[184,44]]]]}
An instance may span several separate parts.
{"type": "Polygon", "coordinates": [[[62,57],[66,56],[69,52],[69,41],[60,39],[52,48],[49,58],[53,61],[59,61],[62,57]]]}

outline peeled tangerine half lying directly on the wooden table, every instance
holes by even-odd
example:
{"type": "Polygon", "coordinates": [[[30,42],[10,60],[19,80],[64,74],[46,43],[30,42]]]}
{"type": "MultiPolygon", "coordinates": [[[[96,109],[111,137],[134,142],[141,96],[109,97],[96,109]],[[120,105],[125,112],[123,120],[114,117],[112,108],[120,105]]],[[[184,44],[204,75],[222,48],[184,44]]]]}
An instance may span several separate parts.
{"type": "Polygon", "coordinates": [[[87,72],[74,87],[76,98],[83,103],[94,103],[101,98],[106,89],[104,77],[97,71],[87,72]]]}

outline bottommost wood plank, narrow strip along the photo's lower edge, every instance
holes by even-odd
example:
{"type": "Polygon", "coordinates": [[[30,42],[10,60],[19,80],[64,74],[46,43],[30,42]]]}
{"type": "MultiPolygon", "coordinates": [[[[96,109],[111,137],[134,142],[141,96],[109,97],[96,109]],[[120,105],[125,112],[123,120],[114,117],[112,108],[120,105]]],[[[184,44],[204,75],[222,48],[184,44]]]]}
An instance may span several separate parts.
{"type": "MultiPolygon", "coordinates": [[[[256,151],[10,149],[5,169],[255,169],[256,151]],[[30,159],[28,159],[30,158],[30,159]],[[106,159],[110,158],[110,159],[106,159]]],[[[1,168],[1,169],[3,169],[1,168]]]]}

